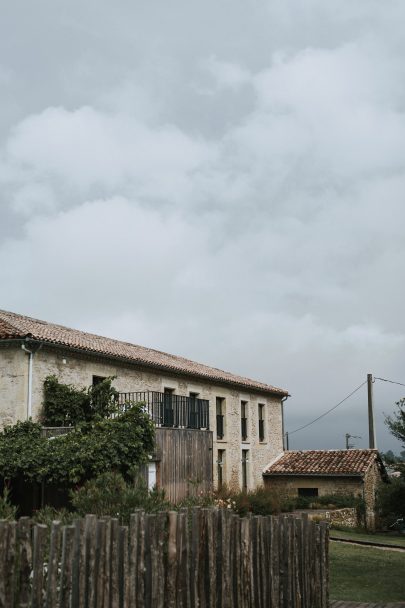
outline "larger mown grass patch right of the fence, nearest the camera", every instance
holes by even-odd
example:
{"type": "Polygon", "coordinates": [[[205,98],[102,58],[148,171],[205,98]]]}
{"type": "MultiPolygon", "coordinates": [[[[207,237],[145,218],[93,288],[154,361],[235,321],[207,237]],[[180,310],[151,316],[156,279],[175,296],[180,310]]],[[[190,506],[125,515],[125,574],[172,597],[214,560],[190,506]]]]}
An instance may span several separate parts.
{"type": "Polygon", "coordinates": [[[405,601],[405,553],[331,542],[330,597],[353,602],[405,601]]]}

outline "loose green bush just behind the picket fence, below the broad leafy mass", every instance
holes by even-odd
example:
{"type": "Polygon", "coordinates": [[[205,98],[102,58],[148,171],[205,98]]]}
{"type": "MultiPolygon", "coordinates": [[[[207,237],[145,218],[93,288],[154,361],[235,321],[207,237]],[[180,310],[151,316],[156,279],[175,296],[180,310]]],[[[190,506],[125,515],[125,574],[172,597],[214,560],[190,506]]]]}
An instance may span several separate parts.
{"type": "Polygon", "coordinates": [[[87,481],[81,488],[71,492],[73,508],[81,516],[87,513],[118,517],[129,523],[135,509],[154,513],[172,508],[164,492],[156,488],[149,491],[145,481],[134,475],[130,482],[117,472],[103,473],[87,481]]]}

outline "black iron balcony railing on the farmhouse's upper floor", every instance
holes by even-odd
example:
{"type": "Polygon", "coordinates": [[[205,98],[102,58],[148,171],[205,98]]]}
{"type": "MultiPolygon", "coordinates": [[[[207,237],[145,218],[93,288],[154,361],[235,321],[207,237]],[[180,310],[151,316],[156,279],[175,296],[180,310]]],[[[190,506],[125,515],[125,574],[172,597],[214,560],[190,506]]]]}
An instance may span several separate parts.
{"type": "Polygon", "coordinates": [[[210,426],[208,399],[156,391],[118,393],[120,411],[132,403],[143,403],[156,426],[207,430],[210,426]]]}

